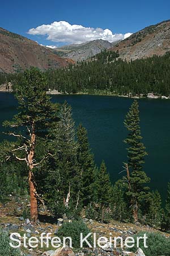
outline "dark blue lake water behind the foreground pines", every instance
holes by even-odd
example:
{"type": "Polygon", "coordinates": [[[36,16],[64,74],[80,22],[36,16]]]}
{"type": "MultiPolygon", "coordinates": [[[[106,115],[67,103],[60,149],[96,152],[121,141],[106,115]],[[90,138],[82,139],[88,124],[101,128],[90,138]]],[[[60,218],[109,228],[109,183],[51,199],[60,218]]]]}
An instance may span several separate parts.
{"type": "MultiPolygon", "coordinates": [[[[82,122],[95,154],[97,165],[105,160],[109,174],[116,181],[126,162],[124,118],[133,100],[109,96],[53,96],[53,101],[67,100],[73,108],[76,126],[82,122]]],[[[0,93],[0,122],[12,118],[17,102],[12,94],[0,93]]],[[[148,156],[144,166],[151,177],[151,188],[165,197],[170,181],[170,101],[139,100],[141,132],[148,156]]],[[[3,128],[0,126],[0,133],[3,128]]],[[[0,135],[0,140],[5,138],[0,135]]]]}

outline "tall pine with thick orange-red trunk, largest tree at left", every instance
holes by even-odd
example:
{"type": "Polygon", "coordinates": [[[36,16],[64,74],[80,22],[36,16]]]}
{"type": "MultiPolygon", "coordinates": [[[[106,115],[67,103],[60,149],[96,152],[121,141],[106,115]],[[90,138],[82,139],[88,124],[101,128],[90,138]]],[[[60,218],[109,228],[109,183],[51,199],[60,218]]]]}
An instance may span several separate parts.
{"type": "Polygon", "coordinates": [[[22,80],[15,87],[19,113],[14,115],[12,121],[4,123],[13,129],[8,134],[17,138],[16,143],[11,143],[6,159],[24,161],[28,166],[32,221],[37,220],[37,200],[40,199],[36,190],[34,169],[49,155],[46,150],[46,154],[38,159],[36,144],[40,137],[45,139],[50,126],[57,120],[57,106],[52,104],[45,89],[45,76],[39,69],[31,68],[25,71],[22,80]]]}

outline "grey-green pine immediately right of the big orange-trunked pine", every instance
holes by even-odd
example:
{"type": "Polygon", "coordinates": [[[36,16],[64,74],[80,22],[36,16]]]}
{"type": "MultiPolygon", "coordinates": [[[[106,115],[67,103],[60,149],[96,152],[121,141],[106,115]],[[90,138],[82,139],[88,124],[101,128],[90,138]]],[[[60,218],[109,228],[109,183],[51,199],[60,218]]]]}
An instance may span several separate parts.
{"type": "MultiPolygon", "coordinates": [[[[71,113],[71,106],[65,102],[61,105],[58,114],[59,122],[52,134],[52,148],[54,155],[54,168],[52,180],[57,186],[58,195],[62,196],[64,208],[78,208],[80,203],[80,170],[77,161],[78,145],[75,141],[75,125],[71,113]],[[54,178],[55,177],[55,178],[54,178]],[[56,181],[55,181],[56,180],[56,181]]],[[[48,192],[52,196],[52,204],[56,204],[56,196],[52,191],[48,192]]],[[[49,196],[48,196],[49,197],[49,196]]],[[[60,197],[60,196],[59,196],[60,197]]]]}

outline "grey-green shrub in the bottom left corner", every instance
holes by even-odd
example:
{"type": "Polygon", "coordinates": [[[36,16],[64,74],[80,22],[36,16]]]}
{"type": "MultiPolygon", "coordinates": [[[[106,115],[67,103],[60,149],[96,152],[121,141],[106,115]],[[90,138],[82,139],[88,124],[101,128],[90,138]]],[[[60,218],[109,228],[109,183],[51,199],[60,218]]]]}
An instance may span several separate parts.
{"type": "Polygon", "coordinates": [[[10,237],[8,232],[0,230],[0,255],[1,256],[20,256],[20,250],[10,246],[10,237]]]}

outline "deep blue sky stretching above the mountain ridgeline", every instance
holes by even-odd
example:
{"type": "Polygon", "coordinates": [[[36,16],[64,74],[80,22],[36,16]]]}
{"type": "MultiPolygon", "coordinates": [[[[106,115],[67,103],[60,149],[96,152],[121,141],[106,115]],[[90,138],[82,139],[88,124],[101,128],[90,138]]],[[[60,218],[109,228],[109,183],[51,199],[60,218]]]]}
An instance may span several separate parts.
{"type": "Polygon", "coordinates": [[[93,36],[96,39],[100,35],[111,41],[112,38],[123,38],[128,32],[170,19],[169,10],[168,0],[8,0],[1,2],[0,27],[45,45],[57,46],[76,41],[80,43],[88,38],[91,40],[93,36]],[[58,23],[59,21],[67,23],[58,23]],[[37,29],[42,24],[49,26],[37,29]],[[82,27],[75,27],[72,35],[70,31],[74,30],[73,24],[82,27]],[[46,40],[47,37],[50,40],[46,40]]]}

